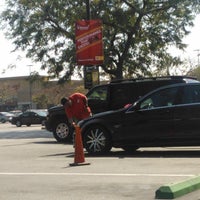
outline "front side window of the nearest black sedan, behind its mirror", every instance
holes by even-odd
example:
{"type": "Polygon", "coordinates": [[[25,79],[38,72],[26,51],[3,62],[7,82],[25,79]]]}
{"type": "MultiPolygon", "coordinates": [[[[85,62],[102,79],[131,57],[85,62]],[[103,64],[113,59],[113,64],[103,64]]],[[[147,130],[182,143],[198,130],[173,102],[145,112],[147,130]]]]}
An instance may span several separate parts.
{"type": "Polygon", "coordinates": [[[153,93],[140,104],[140,109],[150,109],[174,105],[177,91],[178,88],[167,88],[153,93]]]}

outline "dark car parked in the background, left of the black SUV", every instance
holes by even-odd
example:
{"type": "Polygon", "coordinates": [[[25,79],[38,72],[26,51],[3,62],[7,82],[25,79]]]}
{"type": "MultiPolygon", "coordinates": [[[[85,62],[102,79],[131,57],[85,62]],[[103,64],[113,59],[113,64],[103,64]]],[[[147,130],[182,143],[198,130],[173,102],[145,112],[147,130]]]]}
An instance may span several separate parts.
{"type": "Polygon", "coordinates": [[[14,116],[11,124],[20,127],[22,125],[31,126],[32,124],[41,124],[44,126],[46,121],[46,112],[30,110],[14,116]]]}

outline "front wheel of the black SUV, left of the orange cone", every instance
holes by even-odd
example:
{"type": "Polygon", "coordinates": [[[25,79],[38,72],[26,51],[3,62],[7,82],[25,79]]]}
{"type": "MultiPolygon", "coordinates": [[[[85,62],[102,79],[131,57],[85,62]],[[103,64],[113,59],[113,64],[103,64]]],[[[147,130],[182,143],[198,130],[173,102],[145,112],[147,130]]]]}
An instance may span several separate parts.
{"type": "Polygon", "coordinates": [[[58,142],[68,142],[71,140],[71,129],[66,122],[56,122],[53,129],[53,136],[58,142]]]}

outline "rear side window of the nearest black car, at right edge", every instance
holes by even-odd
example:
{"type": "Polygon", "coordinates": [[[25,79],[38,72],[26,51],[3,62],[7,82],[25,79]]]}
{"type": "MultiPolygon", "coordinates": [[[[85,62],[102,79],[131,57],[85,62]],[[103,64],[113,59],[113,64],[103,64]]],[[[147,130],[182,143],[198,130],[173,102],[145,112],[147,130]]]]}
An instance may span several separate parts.
{"type": "Polygon", "coordinates": [[[190,85],[184,88],[183,104],[200,103],[200,86],[190,85]]]}

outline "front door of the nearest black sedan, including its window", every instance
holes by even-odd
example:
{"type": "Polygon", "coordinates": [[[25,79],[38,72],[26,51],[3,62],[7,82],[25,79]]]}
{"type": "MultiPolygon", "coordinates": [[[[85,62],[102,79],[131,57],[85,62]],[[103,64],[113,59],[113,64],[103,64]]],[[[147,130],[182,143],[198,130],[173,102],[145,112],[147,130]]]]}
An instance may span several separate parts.
{"type": "Polygon", "coordinates": [[[158,90],[130,108],[123,119],[127,142],[164,144],[173,134],[173,102],[177,88],[158,90]]]}

